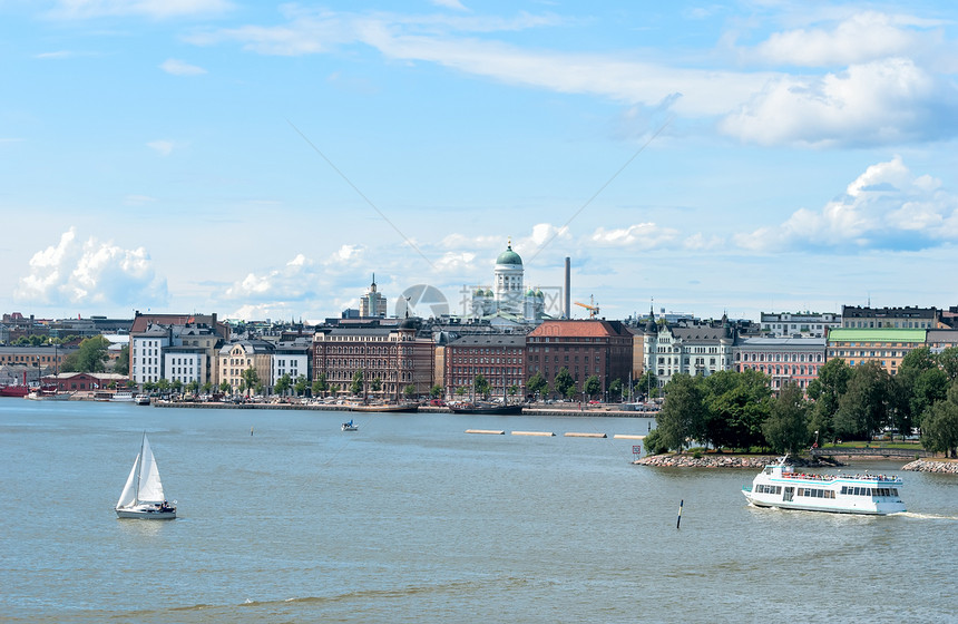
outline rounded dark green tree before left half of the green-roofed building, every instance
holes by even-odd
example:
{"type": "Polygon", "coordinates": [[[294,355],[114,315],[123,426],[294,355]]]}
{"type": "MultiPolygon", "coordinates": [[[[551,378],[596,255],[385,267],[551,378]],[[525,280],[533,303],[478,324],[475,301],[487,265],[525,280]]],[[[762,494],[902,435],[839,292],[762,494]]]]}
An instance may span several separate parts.
{"type": "Polygon", "coordinates": [[[854,367],[848,390],[839,400],[834,417],[835,433],[844,438],[870,439],[889,421],[891,397],[891,377],[878,362],[854,367]]]}

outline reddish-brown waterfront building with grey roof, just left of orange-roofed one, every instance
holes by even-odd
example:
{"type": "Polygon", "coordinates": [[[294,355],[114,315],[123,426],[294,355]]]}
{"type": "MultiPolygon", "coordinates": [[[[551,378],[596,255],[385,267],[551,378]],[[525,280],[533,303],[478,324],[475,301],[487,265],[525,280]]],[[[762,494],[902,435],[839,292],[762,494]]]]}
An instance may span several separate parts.
{"type": "Polygon", "coordinates": [[[463,335],[448,343],[443,352],[447,398],[471,397],[480,374],[489,383],[492,397],[526,396],[524,334],[463,335]]]}

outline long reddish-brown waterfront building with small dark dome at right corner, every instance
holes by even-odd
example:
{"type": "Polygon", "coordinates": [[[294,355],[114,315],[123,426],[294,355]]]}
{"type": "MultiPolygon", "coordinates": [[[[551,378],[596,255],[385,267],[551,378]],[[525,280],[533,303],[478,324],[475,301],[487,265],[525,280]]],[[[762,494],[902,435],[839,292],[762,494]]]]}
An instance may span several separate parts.
{"type": "Polygon", "coordinates": [[[330,391],[350,393],[362,371],[363,394],[401,399],[408,387],[424,396],[433,381],[433,341],[420,335],[419,319],[397,325],[366,323],[360,326],[320,328],[313,337],[313,379],[325,376],[330,391]],[[378,388],[378,389],[377,389],[378,388]]]}

